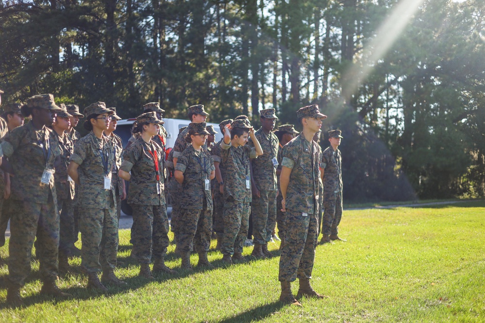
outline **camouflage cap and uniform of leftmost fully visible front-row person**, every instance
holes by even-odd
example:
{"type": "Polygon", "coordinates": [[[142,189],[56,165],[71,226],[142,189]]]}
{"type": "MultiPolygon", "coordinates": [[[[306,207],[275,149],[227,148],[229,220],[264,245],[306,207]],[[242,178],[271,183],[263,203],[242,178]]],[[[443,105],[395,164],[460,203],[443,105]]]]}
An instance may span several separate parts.
{"type": "MultiPolygon", "coordinates": [[[[35,95],[27,100],[32,107],[60,111],[52,94],[35,95]]],[[[59,248],[59,213],[54,176],[49,184],[41,184],[46,169],[54,169],[60,155],[55,133],[43,126],[37,130],[32,122],[19,126],[1,144],[14,169],[10,195],[10,287],[23,286],[31,268],[31,253],[37,237],[39,272],[44,282],[57,278],[59,248]]]]}

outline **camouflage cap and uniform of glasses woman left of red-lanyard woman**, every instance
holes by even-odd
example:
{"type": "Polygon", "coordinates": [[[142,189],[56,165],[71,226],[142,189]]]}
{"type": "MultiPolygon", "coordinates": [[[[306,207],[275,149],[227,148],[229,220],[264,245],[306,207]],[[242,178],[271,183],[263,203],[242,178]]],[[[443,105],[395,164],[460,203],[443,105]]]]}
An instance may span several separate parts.
{"type": "MultiPolygon", "coordinates": [[[[84,114],[113,114],[103,102],[84,109],[84,114]]],[[[118,251],[118,217],[114,186],[104,189],[105,176],[111,177],[113,145],[106,136],[97,138],[93,131],[74,146],[71,162],[79,165],[79,207],[81,231],[81,268],[87,274],[113,270],[118,251]],[[103,163],[104,160],[104,163],[103,163]]]]}

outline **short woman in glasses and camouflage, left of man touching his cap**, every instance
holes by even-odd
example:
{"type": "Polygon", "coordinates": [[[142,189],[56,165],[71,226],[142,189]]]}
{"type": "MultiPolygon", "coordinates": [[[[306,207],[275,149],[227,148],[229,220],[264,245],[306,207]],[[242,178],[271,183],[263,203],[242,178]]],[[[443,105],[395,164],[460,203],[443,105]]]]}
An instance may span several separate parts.
{"type": "Polygon", "coordinates": [[[210,180],[215,177],[214,162],[209,152],[202,149],[209,132],[206,123],[189,124],[185,141],[192,145],[178,157],[175,179],[182,185],[179,199],[179,232],[176,252],[182,258],[182,268],[192,269],[190,252],[199,255],[199,266],[212,267],[207,259],[212,233],[212,194],[210,180]]]}

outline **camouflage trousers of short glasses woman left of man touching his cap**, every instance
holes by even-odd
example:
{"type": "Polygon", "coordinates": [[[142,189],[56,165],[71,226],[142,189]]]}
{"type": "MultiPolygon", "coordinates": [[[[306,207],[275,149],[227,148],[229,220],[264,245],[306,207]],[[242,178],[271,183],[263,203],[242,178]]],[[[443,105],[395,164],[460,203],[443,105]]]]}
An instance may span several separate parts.
{"type": "Polygon", "coordinates": [[[207,210],[204,202],[204,210],[180,209],[178,216],[180,230],[175,251],[180,254],[184,252],[209,251],[210,235],[212,233],[212,210],[207,210]]]}

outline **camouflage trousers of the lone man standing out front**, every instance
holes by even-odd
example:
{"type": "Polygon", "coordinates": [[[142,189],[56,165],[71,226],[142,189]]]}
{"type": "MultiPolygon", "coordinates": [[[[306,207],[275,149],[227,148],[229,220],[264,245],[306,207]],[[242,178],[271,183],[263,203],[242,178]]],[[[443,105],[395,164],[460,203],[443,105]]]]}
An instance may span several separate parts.
{"type": "Polygon", "coordinates": [[[310,279],[317,245],[317,215],[286,209],[285,243],[279,259],[279,281],[310,279]]]}

